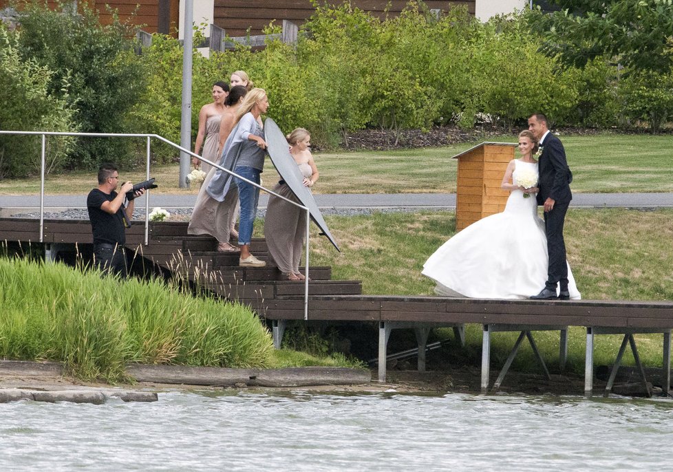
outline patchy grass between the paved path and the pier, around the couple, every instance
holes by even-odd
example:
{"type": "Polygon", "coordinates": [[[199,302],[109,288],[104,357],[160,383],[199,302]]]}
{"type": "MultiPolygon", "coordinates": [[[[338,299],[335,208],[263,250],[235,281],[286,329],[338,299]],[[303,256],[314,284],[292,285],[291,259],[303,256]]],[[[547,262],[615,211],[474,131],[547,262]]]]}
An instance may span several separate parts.
{"type": "MultiPolygon", "coordinates": [[[[365,294],[433,294],[434,283],[420,271],[427,257],[455,233],[453,212],[374,213],[326,216],[325,220],[342,252],[337,253],[314,231],[312,265],[332,266],[334,279],[361,279],[365,294]]],[[[568,260],[584,299],[673,300],[673,210],[571,209],[565,236],[568,260]]],[[[504,363],[517,335],[493,335],[493,365],[504,363]]],[[[452,334],[440,330],[439,336],[452,334]]],[[[554,369],[558,333],[536,332],[534,336],[554,369]]],[[[584,328],[570,328],[568,364],[577,374],[584,372],[585,336],[584,328]]],[[[637,338],[643,363],[661,365],[661,335],[637,338]]],[[[479,325],[468,325],[467,343],[469,350],[480,352],[479,325]]],[[[596,336],[595,363],[612,363],[620,343],[621,336],[596,336]]],[[[478,363],[478,358],[474,361],[478,363]]],[[[630,351],[624,363],[632,363],[630,351]]],[[[539,371],[527,342],[514,366],[539,371]]]]}

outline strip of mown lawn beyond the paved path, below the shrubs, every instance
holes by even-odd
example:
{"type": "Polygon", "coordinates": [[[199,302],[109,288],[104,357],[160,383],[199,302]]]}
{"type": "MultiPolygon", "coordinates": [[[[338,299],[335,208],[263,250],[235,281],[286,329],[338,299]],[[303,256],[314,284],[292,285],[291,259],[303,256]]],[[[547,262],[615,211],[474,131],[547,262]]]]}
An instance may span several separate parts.
{"type": "MultiPolygon", "coordinates": [[[[673,192],[671,136],[603,133],[591,136],[561,135],[568,164],[573,170],[573,191],[584,193],[673,192]]],[[[338,151],[317,153],[320,180],[315,193],[453,193],[456,160],[451,159],[482,141],[516,142],[515,136],[489,137],[448,147],[398,151],[338,151]]],[[[273,187],[277,174],[266,163],[262,179],[273,187]]],[[[145,180],[144,169],[120,171],[122,180],[145,180]]],[[[159,188],[154,193],[197,193],[178,187],[178,164],[153,166],[159,188]]],[[[86,195],[95,186],[95,173],[74,171],[49,175],[48,195],[86,195]]],[[[0,195],[39,193],[39,178],[0,180],[0,195]]]]}

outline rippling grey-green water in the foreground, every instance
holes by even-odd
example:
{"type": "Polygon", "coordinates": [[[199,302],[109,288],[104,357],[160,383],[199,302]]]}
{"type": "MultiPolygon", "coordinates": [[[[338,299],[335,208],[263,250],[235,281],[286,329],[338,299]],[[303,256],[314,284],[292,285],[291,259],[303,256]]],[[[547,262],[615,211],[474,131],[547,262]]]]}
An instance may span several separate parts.
{"type": "Polygon", "coordinates": [[[0,470],[575,471],[670,462],[670,400],[169,392],[0,405],[0,470]]]}

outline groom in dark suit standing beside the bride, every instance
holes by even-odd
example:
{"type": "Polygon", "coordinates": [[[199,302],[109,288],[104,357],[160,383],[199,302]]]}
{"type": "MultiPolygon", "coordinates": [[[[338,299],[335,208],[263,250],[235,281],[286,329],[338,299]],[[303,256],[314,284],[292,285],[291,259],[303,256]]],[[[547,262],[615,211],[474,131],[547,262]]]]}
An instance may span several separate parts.
{"type": "Polygon", "coordinates": [[[566,244],[563,239],[563,224],[566,211],[573,194],[570,193],[570,182],[573,173],[566,162],[566,151],[561,140],[549,132],[547,118],[541,113],[528,118],[528,129],[540,142],[540,191],[537,193],[537,204],[544,206],[544,228],[547,235],[547,253],[549,266],[547,281],[542,291],[533,295],[533,300],[570,299],[568,292],[568,265],[566,264],[566,244]],[[556,294],[556,284],[559,294],[556,294]]]}

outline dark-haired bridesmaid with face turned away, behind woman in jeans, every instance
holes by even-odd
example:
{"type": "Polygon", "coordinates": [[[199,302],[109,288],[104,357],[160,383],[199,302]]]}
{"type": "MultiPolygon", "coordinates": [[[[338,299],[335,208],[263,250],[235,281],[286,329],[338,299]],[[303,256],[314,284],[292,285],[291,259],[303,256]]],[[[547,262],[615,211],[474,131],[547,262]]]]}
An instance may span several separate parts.
{"type": "MultiPolygon", "coordinates": [[[[247,93],[246,87],[241,87],[240,85],[231,87],[231,92],[229,92],[226,100],[224,100],[225,109],[224,114],[222,114],[220,133],[224,133],[225,140],[235,125],[236,112],[247,93]]],[[[221,165],[219,158],[215,159],[214,162],[218,162],[221,165]]],[[[239,253],[239,248],[229,242],[231,237],[238,237],[238,234],[233,231],[233,225],[238,215],[237,187],[231,186],[222,202],[215,200],[206,192],[217,170],[217,167],[211,167],[211,170],[206,175],[206,179],[196,198],[196,204],[189,220],[187,233],[190,235],[211,235],[215,237],[218,242],[217,250],[220,253],[239,253]]]]}

